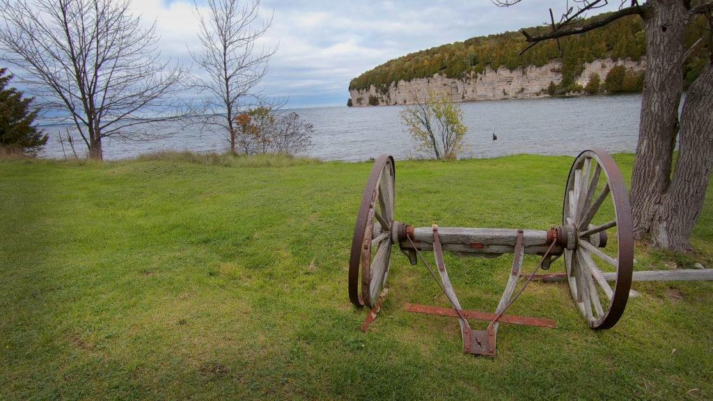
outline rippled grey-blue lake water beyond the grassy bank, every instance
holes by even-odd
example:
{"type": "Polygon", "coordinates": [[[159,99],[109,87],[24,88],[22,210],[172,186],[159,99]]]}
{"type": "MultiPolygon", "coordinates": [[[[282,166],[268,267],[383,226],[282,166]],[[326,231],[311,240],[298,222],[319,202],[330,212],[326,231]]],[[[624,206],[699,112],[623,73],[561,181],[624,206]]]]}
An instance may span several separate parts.
{"type": "MultiPolygon", "coordinates": [[[[614,152],[635,151],[640,95],[580,96],[459,103],[463,109],[467,150],[461,157],[491,158],[518,153],[575,156],[597,146],[614,152]],[[492,140],[493,133],[498,136],[492,140]]],[[[307,156],[322,160],[364,161],[381,153],[409,157],[414,142],[401,124],[403,106],[296,109],[316,132],[307,156]]],[[[64,126],[44,126],[50,135],[44,157],[63,158],[57,133],[64,126]]],[[[106,141],[106,139],[105,139],[106,141]]],[[[107,159],[131,158],[160,150],[225,151],[220,133],[198,127],[146,143],[106,141],[107,159]]],[[[79,151],[80,148],[77,148],[79,151]]],[[[83,151],[83,149],[81,149],[83,151]]]]}

